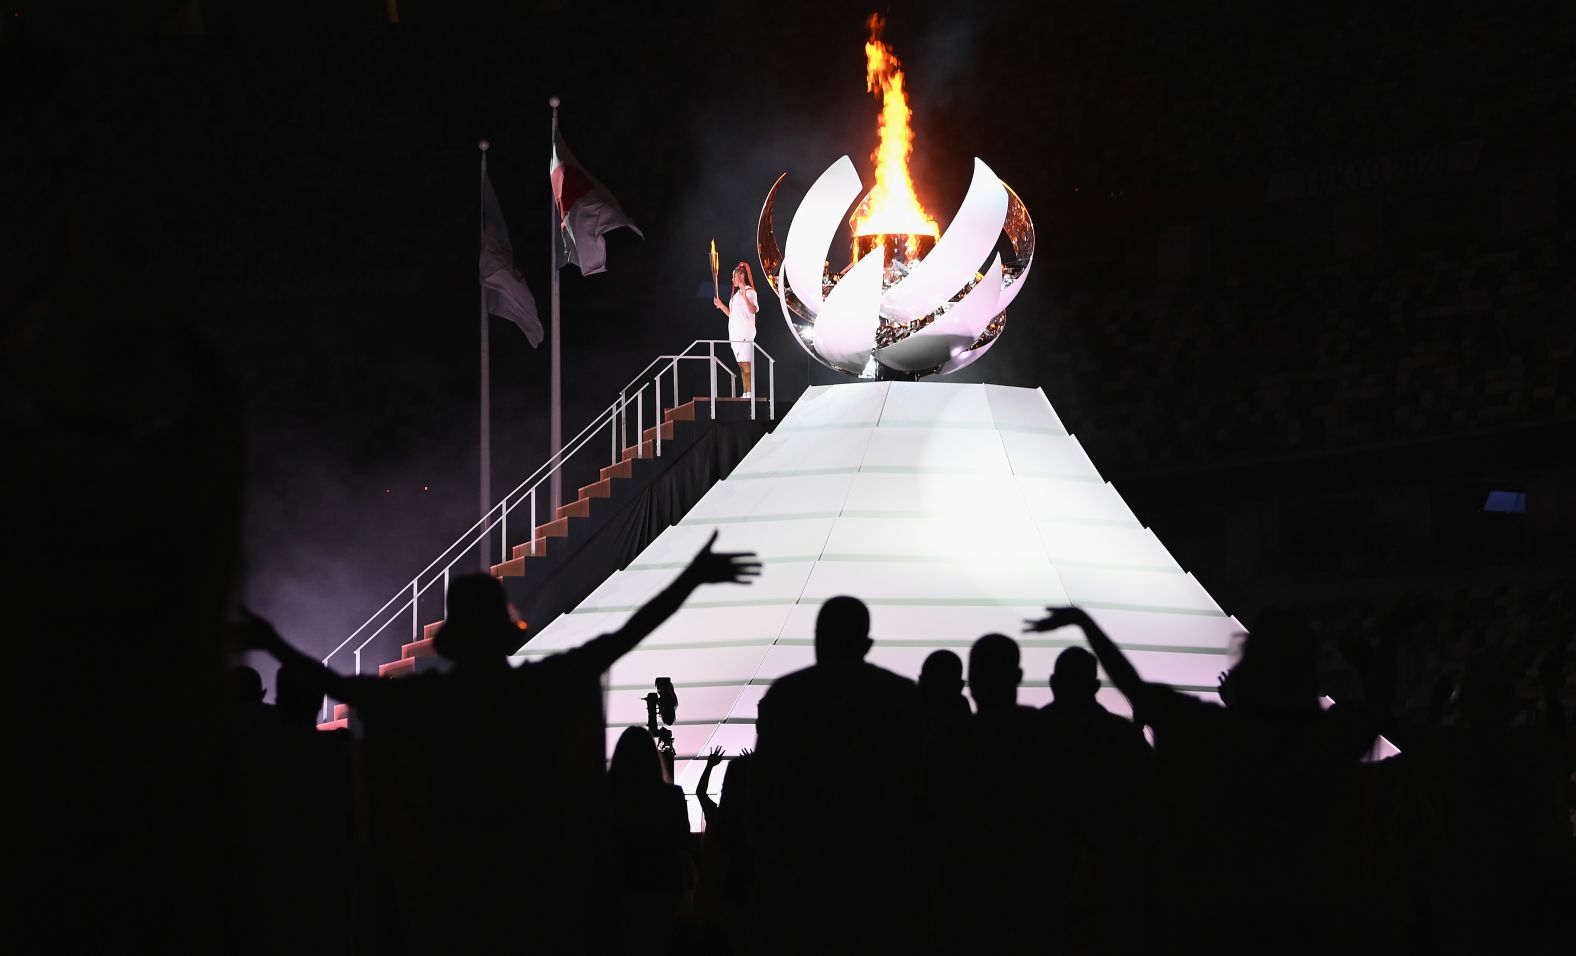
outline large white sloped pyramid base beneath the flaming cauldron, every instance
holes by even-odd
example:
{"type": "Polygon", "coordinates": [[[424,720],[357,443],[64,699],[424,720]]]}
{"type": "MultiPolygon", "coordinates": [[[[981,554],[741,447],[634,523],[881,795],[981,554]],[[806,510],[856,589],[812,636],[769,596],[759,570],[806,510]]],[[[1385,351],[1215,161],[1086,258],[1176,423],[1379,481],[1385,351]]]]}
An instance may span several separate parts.
{"type": "MultiPolygon", "coordinates": [[[[1242,625],[1133,517],[1067,433],[1045,394],[993,384],[815,386],[675,526],[517,657],[531,660],[618,628],[717,529],[749,550],[752,586],[711,584],[608,677],[608,747],[645,724],[657,677],[679,696],[676,783],[690,795],[712,747],[755,743],[772,679],[813,663],[823,600],[870,606],[873,663],[919,676],[931,650],[968,657],[983,633],[1023,647],[1020,701],[1050,699],[1056,655],[1076,630],[1023,635],[1048,605],[1086,608],[1149,680],[1214,698],[1242,625]]],[[[1102,688],[1102,702],[1127,713],[1102,688]]],[[[727,764],[712,778],[717,792],[727,764]]]]}

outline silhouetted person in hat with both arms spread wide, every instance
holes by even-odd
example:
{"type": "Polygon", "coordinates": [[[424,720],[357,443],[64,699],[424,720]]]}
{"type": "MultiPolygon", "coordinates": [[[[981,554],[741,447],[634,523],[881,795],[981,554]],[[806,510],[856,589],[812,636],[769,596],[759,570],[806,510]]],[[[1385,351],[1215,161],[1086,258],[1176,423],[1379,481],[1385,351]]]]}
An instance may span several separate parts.
{"type": "Polygon", "coordinates": [[[509,650],[520,632],[501,586],[481,575],[451,586],[435,641],[454,663],[444,673],[344,677],[254,621],[262,649],[317,668],[366,726],[364,828],[374,873],[385,877],[385,948],[493,948],[520,934],[544,951],[582,948],[599,934],[613,942],[589,909],[599,896],[588,850],[607,819],[599,680],[698,586],[760,572],[749,554],[714,553],[712,542],[716,534],[619,630],[519,668],[509,650]],[[522,901],[531,906],[526,923],[522,901]]]}

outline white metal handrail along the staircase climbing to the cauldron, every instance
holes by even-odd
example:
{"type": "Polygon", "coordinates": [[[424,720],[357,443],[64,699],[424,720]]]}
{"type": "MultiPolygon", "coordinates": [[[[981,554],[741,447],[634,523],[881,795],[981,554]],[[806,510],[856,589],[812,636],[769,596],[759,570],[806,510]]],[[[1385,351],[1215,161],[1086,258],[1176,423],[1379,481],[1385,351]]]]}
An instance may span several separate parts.
{"type": "MultiPolygon", "coordinates": [[[[738,342],[744,342],[744,340],[738,340],[738,342]]],[[[451,576],[451,572],[452,572],[454,565],[459,564],[460,559],[463,559],[468,554],[471,554],[473,550],[476,550],[476,548],[481,548],[482,554],[485,554],[487,543],[489,543],[489,540],[490,540],[490,537],[492,537],[492,534],[493,534],[495,529],[500,532],[500,562],[507,562],[511,559],[509,513],[514,509],[520,507],[522,504],[528,504],[530,506],[530,529],[531,529],[531,540],[530,540],[531,550],[530,550],[530,554],[534,554],[536,553],[536,542],[539,540],[537,535],[536,535],[536,529],[539,526],[537,520],[536,520],[537,518],[536,499],[537,499],[537,490],[541,488],[542,482],[550,480],[556,472],[563,471],[563,468],[569,463],[569,460],[574,455],[577,455],[578,452],[582,452],[586,446],[589,446],[591,441],[593,441],[593,438],[604,427],[608,428],[610,461],[613,465],[616,465],[619,461],[621,452],[624,449],[630,447],[629,443],[627,443],[627,425],[629,425],[629,409],[630,409],[632,405],[635,408],[635,436],[637,436],[637,441],[634,444],[634,452],[635,452],[637,458],[645,458],[646,457],[646,454],[645,454],[645,441],[643,441],[643,435],[645,435],[646,389],[652,391],[652,398],[654,398],[652,400],[652,424],[656,427],[654,427],[654,432],[652,432],[652,436],[654,436],[652,454],[654,455],[660,455],[662,454],[662,424],[663,424],[665,411],[668,408],[676,408],[678,405],[681,405],[681,400],[679,400],[679,362],[686,362],[686,361],[704,361],[706,362],[708,380],[711,383],[711,387],[709,387],[709,394],[711,394],[711,417],[716,419],[717,417],[717,369],[722,369],[722,372],[728,375],[728,378],[730,378],[730,394],[734,394],[734,395],[738,394],[738,376],[733,373],[731,369],[728,369],[722,362],[720,358],[717,358],[717,345],[734,345],[734,343],[736,343],[736,340],[728,340],[728,339],[697,339],[695,342],[690,342],[689,346],[686,346],[679,353],[663,354],[663,356],[657,356],[656,359],[652,359],[641,370],[640,375],[637,375],[629,384],[626,384],[623,389],[619,389],[618,398],[615,398],[611,405],[608,405],[607,408],[604,408],[602,411],[599,411],[596,414],[596,417],[593,417],[591,422],[585,428],[582,428],[574,438],[571,438],[567,443],[564,443],[564,446],[559,449],[559,452],[556,455],[550,455],[547,458],[547,461],[544,461],[536,471],[533,471],[530,476],[526,476],[525,480],[522,480],[514,488],[511,488],[509,491],[506,491],[503,495],[503,498],[498,499],[498,504],[495,504],[490,509],[487,509],[487,513],[484,513],[468,529],[465,529],[465,532],[462,532],[460,537],[457,537],[454,540],[454,543],[451,543],[435,559],[432,559],[427,564],[427,567],[424,567],[419,572],[416,572],[416,575],[410,580],[410,583],[405,584],[403,587],[400,587],[399,592],[396,592],[386,602],[383,602],[383,606],[380,606],[377,611],[374,611],[372,616],[367,617],[361,624],[361,627],[358,627],[356,630],[353,630],[350,633],[350,636],[347,636],[345,639],[342,639],[339,644],[334,646],[333,650],[329,650],[326,655],[323,655],[323,663],[328,665],[331,660],[334,660],[347,647],[351,647],[351,644],[358,638],[361,638],[361,641],[355,643],[355,646],[351,647],[351,654],[355,657],[355,673],[359,674],[361,673],[361,652],[372,641],[375,641],[378,636],[381,636],[385,632],[388,632],[389,625],[392,625],[397,621],[402,621],[405,617],[407,611],[410,611],[411,641],[419,639],[421,628],[422,628],[422,625],[421,625],[421,597],[424,594],[427,594],[429,591],[432,591],[432,587],[441,581],[441,584],[443,584],[441,592],[444,595],[444,603],[448,603],[449,576],[451,576]],[[695,350],[698,350],[698,346],[703,346],[703,345],[706,346],[704,353],[695,351],[695,350]],[[690,354],[692,351],[695,354],[690,354]],[[662,365],[662,362],[667,362],[667,364],[662,365]],[[654,367],[657,367],[657,365],[662,365],[657,370],[657,373],[651,380],[641,381],[641,378],[648,372],[651,372],[654,367]],[[663,376],[668,376],[670,373],[671,373],[673,386],[671,386],[670,394],[663,395],[662,381],[663,381],[663,376]],[[640,387],[635,387],[637,384],[640,387]],[[630,391],[630,389],[634,389],[634,391],[630,391]],[[665,403],[663,398],[671,398],[671,405],[665,403]]],[[[768,361],[768,395],[766,395],[768,416],[771,419],[775,419],[777,417],[777,361],[764,348],[755,345],[753,342],[750,342],[750,348],[752,348],[752,353],[750,353],[752,359],[755,358],[756,351],[761,353],[763,356],[766,356],[766,361],[768,361]]],[[[756,416],[756,405],[758,403],[755,400],[750,402],[750,419],[752,421],[756,416]]],[[[556,502],[555,502],[555,506],[550,506],[550,507],[556,509],[556,502]]],[[[323,713],[325,713],[325,717],[328,713],[328,702],[326,702],[326,699],[325,699],[325,704],[323,704],[323,713]]]]}

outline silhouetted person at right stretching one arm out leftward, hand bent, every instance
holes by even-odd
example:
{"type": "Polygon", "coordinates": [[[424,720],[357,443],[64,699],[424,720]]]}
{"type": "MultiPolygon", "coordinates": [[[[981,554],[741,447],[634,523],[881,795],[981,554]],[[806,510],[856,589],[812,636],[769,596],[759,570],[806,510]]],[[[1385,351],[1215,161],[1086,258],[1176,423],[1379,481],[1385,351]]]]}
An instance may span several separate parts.
{"type": "Polygon", "coordinates": [[[1226,707],[1138,676],[1078,608],[1029,622],[1083,628],[1100,666],[1155,732],[1165,844],[1155,885],[1165,932],[1214,934],[1226,951],[1316,951],[1351,932],[1357,762],[1373,721],[1321,710],[1311,636],[1284,611],[1254,621],[1221,687],[1226,707]],[[1221,923],[1210,909],[1231,901],[1221,923]],[[1299,929],[1292,929],[1299,928],[1299,929]]]}

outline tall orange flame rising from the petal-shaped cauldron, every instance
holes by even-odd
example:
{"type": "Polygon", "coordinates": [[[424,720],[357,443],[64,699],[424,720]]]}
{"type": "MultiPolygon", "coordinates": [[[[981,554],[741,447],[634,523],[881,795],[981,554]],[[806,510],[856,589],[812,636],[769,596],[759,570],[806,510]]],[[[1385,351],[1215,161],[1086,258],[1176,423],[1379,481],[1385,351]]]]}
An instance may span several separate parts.
{"type": "Polygon", "coordinates": [[[865,20],[865,90],[881,93],[881,139],[870,159],[876,164],[875,189],[854,209],[849,225],[856,236],[920,235],[939,236],[936,220],[919,205],[914,181],[908,178],[908,157],[914,151],[914,131],[908,128],[913,110],[903,94],[903,71],[892,47],[881,43],[886,20],[870,14],[865,20]]]}

